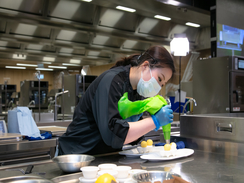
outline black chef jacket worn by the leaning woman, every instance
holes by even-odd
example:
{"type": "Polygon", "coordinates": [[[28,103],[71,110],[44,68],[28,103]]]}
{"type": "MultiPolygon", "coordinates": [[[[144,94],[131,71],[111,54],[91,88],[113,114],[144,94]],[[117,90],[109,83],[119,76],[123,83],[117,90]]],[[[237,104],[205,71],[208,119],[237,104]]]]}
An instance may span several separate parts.
{"type": "Polygon", "coordinates": [[[59,138],[59,155],[102,154],[121,150],[129,124],[118,111],[125,92],[131,101],[143,99],[129,80],[131,66],[110,69],[97,77],[75,108],[73,121],[59,138]]]}

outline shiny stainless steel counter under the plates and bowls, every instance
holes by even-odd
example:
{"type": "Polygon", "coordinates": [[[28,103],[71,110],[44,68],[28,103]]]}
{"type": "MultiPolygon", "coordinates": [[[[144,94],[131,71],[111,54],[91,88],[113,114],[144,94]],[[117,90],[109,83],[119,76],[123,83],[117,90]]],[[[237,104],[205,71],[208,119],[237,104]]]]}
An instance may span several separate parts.
{"type": "MultiPolygon", "coordinates": [[[[99,156],[90,165],[101,163],[115,163],[117,165],[129,165],[133,169],[146,170],[170,170],[182,176],[189,182],[243,182],[244,157],[228,156],[226,154],[210,153],[195,150],[189,157],[171,160],[150,162],[140,158],[126,158],[117,153],[107,156],[99,156]]],[[[6,167],[7,168],[7,167],[6,167]]],[[[22,167],[24,170],[26,167],[22,167]]],[[[0,170],[0,177],[20,176],[20,171],[0,170]]],[[[51,160],[42,165],[35,165],[29,175],[41,175],[47,179],[68,175],[63,173],[51,160]]]]}

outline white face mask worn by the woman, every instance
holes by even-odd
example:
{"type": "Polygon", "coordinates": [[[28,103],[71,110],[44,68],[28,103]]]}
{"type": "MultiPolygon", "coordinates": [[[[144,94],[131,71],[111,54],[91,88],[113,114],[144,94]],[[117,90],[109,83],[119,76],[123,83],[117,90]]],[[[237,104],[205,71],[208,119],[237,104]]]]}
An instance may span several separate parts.
{"type": "Polygon", "coordinates": [[[141,72],[141,79],[137,84],[137,92],[139,95],[143,97],[153,97],[158,94],[161,90],[161,86],[158,84],[157,80],[152,76],[151,69],[150,69],[151,79],[149,81],[144,81],[142,79],[142,72],[141,72]]]}

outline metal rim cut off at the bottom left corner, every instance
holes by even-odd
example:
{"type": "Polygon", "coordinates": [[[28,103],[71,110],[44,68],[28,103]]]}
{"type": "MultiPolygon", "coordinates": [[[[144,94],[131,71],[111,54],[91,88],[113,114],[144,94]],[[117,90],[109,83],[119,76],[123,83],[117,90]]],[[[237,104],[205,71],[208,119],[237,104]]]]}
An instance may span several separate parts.
{"type": "Polygon", "coordinates": [[[44,179],[39,176],[15,176],[8,178],[0,178],[1,183],[53,183],[53,181],[44,179]]]}

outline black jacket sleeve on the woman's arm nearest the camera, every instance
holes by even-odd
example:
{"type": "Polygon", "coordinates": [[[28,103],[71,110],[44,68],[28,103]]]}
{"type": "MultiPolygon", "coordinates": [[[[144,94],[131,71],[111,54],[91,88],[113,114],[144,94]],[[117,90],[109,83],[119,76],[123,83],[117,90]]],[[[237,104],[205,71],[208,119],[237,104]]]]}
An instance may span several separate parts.
{"type": "Polygon", "coordinates": [[[100,81],[92,103],[92,110],[103,141],[114,149],[121,149],[129,124],[118,111],[124,81],[120,75],[108,72],[100,81]]]}

